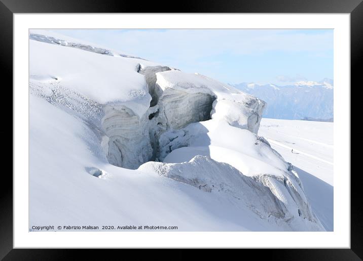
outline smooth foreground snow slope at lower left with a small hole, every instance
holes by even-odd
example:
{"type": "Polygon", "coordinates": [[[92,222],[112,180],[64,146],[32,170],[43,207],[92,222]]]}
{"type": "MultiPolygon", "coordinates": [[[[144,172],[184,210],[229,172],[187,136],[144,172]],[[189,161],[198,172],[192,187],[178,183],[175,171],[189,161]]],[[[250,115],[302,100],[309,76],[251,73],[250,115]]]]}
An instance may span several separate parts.
{"type": "Polygon", "coordinates": [[[280,230],[261,223],[237,199],[109,164],[87,125],[34,95],[30,119],[31,226],[106,223],[178,226],[181,231],[280,230]],[[86,137],[94,142],[87,144],[86,137]],[[107,174],[96,178],[87,167],[107,174]]]}

